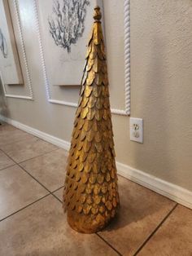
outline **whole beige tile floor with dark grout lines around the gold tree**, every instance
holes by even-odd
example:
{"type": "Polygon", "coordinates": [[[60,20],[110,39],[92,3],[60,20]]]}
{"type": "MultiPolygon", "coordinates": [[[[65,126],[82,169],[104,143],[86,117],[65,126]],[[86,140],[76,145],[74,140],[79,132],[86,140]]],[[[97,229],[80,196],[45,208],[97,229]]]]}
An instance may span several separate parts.
{"type": "Polygon", "coordinates": [[[67,152],[0,126],[0,255],[192,256],[192,210],[119,177],[120,214],[103,232],[74,232],[62,210],[67,152]]]}

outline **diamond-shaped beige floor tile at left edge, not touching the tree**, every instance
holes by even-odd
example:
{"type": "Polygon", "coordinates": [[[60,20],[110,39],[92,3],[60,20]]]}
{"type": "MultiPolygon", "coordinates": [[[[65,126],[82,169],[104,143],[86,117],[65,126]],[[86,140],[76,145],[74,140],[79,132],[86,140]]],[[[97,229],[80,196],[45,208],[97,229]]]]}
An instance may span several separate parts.
{"type": "Polygon", "coordinates": [[[1,148],[9,157],[19,163],[55,150],[57,147],[34,137],[33,139],[3,145],[1,148]]]}

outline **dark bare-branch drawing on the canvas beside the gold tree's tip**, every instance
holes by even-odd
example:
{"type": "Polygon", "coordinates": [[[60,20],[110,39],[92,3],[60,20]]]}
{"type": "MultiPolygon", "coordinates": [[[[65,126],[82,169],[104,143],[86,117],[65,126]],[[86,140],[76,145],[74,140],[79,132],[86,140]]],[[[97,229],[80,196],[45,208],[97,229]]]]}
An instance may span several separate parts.
{"type": "Polygon", "coordinates": [[[49,17],[50,34],[56,46],[71,52],[72,44],[76,44],[85,30],[87,0],[56,0],[53,14],[49,17]]]}

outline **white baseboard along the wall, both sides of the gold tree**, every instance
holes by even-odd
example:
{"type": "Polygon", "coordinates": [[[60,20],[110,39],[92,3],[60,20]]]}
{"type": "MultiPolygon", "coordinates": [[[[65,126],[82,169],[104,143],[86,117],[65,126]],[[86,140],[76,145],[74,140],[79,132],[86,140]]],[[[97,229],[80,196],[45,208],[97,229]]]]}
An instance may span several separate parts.
{"type": "MultiPolygon", "coordinates": [[[[38,138],[44,139],[49,143],[53,143],[54,145],[64,148],[65,150],[69,150],[70,143],[63,139],[59,139],[55,136],[48,135],[41,130],[36,130],[30,126],[25,126],[19,121],[14,121],[10,118],[3,117],[0,115],[0,120],[6,121],[8,124],[19,128],[20,130],[24,130],[31,135],[35,135],[38,138]]],[[[126,179],[132,180],[135,183],[142,185],[143,187],[149,188],[160,195],[166,196],[172,201],[176,201],[181,205],[185,205],[192,209],[192,192],[181,188],[173,183],[168,183],[163,179],[159,179],[151,174],[146,174],[142,170],[134,169],[131,166],[124,165],[120,162],[116,162],[116,167],[118,170],[118,174],[123,176],[126,179]]]]}

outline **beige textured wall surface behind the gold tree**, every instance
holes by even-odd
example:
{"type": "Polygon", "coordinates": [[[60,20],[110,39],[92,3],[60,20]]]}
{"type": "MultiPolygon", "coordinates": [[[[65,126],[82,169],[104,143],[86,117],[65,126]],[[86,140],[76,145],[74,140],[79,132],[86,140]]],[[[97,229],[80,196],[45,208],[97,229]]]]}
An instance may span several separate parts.
{"type": "MultiPolygon", "coordinates": [[[[123,108],[124,5],[123,0],[103,1],[111,105],[123,108]]],[[[26,2],[30,12],[32,1],[20,0],[26,2]]],[[[36,24],[33,14],[28,17],[24,40],[35,100],[7,99],[7,116],[69,141],[75,108],[47,102],[36,24]]],[[[191,0],[131,1],[131,116],[144,120],[144,143],[130,142],[129,117],[112,117],[117,161],[190,190],[191,28],[191,0]]],[[[76,100],[77,95],[77,89],[63,89],[58,98],[76,100]]]]}

